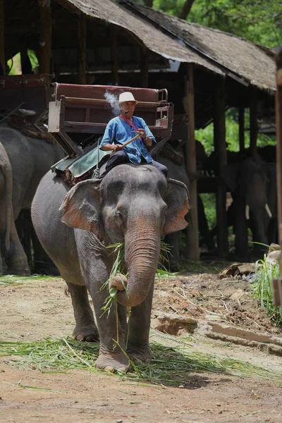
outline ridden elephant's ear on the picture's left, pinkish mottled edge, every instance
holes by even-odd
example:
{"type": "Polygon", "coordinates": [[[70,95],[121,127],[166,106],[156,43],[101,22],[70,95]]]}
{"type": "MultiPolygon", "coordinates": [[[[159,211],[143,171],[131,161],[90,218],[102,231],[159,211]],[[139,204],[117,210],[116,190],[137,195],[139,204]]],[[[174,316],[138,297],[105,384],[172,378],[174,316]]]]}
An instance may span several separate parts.
{"type": "Polygon", "coordinates": [[[77,183],[68,191],[60,210],[61,221],[71,228],[85,229],[96,235],[101,234],[102,223],[99,222],[101,180],[88,179],[77,183]]]}

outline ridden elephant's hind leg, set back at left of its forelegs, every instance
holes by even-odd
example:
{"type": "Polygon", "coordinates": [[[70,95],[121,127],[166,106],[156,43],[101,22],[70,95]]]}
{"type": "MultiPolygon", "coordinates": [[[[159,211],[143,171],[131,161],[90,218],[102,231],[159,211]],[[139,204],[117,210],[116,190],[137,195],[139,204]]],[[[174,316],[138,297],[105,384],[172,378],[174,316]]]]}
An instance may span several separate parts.
{"type": "Polygon", "coordinates": [[[78,341],[98,341],[99,333],[94,322],[86,286],[74,285],[69,282],[67,282],[67,285],[68,291],[71,294],[73,312],[75,315],[75,329],[73,331],[74,338],[78,341]]]}

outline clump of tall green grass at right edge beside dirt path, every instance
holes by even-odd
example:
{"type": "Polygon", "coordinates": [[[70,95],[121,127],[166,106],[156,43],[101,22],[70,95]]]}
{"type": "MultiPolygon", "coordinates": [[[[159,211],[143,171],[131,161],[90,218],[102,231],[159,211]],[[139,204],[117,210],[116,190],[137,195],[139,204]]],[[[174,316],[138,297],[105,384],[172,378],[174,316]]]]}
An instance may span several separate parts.
{"type": "Polygon", "coordinates": [[[254,283],[252,285],[254,296],[259,300],[260,307],[266,309],[266,313],[273,321],[275,326],[282,326],[282,308],[276,307],[273,303],[271,281],[279,276],[279,266],[266,262],[266,255],[264,259],[259,260],[257,264],[257,272],[254,283]]]}

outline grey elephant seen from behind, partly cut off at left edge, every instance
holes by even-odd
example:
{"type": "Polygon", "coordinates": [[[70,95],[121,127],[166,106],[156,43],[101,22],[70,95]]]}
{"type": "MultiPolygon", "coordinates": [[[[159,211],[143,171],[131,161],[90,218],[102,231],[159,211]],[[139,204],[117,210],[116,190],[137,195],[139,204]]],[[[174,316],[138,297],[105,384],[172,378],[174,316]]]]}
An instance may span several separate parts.
{"type": "MultiPolygon", "coordinates": [[[[10,274],[28,275],[30,268],[27,264],[27,257],[20,245],[18,233],[14,228],[21,210],[29,210],[32,198],[35,195],[37,185],[42,176],[49,170],[52,164],[63,158],[63,150],[59,145],[54,145],[44,140],[23,135],[19,130],[11,128],[8,123],[0,125],[1,143],[1,212],[0,212],[0,234],[1,240],[10,233],[10,240],[6,240],[6,248],[1,242],[1,254],[5,258],[10,274]],[[8,166],[8,173],[6,172],[8,166]],[[6,180],[6,191],[4,191],[4,180],[6,180]],[[11,207],[12,204],[12,207],[11,207]],[[9,245],[8,245],[9,243],[9,245]]],[[[42,247],[37,242],[34,247],[35,262],[37,255],[42,261],[42,247]]],[[[47,257],[44,253],[44,257],[47,257]]],[[[47,260],[49,262],[49,258],[47,260]]],[[[35,271],[37,271],[35,267],[35,271]]],[[[0,274],[3,268],[0,266],[0,274]]]]}

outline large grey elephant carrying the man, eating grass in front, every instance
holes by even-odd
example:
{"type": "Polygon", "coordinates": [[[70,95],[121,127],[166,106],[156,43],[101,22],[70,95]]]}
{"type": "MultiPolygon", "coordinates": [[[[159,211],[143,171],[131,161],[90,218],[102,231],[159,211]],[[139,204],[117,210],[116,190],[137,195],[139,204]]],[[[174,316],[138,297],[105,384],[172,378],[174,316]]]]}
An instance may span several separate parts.
{"type": "Polygon", "coordinates": [[[166,180],[150,164],[120,164],[102,180],[84,180],[71,190],[51,172],[39,183],[32,223],[71,294],[73,336],[80,341],[97,341],[99,336],[97,368],[126,372],[128,355],[150,361],[150,314],[161,235],[185,228],[188,208],[186,186],[166,180]],[[127,292],[118,293],[117,307],[111,307],[106,316],[101,309],[109,285],[102,286],[114,259],[106,247],[120,242],[125,243],[127,292]],[[131,307],[128,329],[125,307],[131,307]]]}

